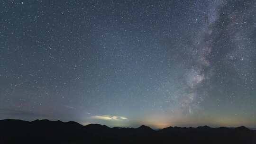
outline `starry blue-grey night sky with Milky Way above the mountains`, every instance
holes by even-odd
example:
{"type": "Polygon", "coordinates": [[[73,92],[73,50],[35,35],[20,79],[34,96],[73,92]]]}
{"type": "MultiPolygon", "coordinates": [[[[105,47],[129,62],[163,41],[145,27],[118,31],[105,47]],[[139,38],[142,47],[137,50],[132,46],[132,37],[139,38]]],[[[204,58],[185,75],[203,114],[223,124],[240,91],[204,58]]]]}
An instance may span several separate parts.
{"type": "Polygon", "coordinates": [[[1,0],[5,118],[256,127],[256,1],[1,0]]]}

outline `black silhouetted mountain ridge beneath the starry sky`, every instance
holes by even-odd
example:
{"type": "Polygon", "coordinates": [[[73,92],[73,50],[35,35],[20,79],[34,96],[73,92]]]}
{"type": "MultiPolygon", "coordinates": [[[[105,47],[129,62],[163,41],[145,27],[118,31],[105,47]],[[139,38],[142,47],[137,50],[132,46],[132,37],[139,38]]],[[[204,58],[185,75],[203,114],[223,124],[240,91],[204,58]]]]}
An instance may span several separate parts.
{"type": "Polygon", "coordinates": [[[256,131],[244,126],[210,128],[148,126],[110,128],[76,122],[0,120],[0,144],[256,144],[256,131]]]}

